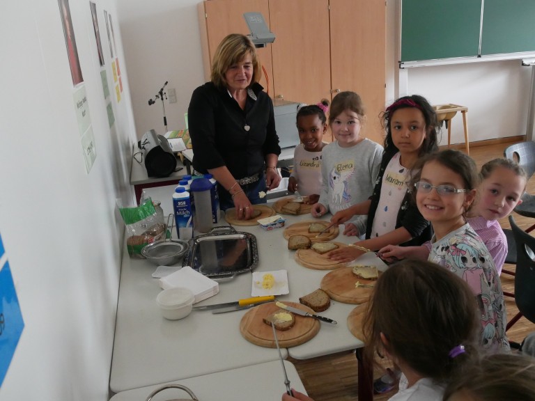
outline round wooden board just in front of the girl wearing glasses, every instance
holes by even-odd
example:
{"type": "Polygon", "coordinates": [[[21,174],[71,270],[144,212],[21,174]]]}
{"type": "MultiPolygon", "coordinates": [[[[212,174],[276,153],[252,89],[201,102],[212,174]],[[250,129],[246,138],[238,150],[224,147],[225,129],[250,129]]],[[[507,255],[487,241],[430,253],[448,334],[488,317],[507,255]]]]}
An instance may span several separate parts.
{"type": "Polygon", "coordinates": [[[373,285],[375,281],[363,280],[353,274],[352,267],[341,267],[325,274],[321,281],[321,289],[334,301],[343,304],[364,304],[367,302],[373,288],[355,288],[355,283],[360,281],[362,284],[373,285]]]}

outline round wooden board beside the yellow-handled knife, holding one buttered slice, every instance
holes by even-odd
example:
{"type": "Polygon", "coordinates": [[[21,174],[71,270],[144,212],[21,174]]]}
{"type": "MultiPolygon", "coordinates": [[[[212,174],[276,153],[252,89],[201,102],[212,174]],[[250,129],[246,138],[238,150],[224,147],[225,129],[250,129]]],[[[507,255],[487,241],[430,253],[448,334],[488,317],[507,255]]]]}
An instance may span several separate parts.
{"type": "MultiPolygon", "coordinates": [[[[314,313],[311,308],[302,304],[297,304],[296,302],[285,301],[284,304],[314,313]]],[[[262,319],[278,309],[280,309],[279,306],[275,305],[274,302],[269,302],[267,304],[255,306],[245,313],[240,322],[240,333],[242,333],[243,338],[254,345],[277,348],[273,338],[272,327],[265,324],[262,319]]],[[[316,336],[318,331],[320,331],[320,322],[318,322],[318,320],[313,317],[300,315],[295,315],[295,324],[291,329],[286,331],[275,330],[277,333],[277,340],[279,340],[279,347],[281,348],[295,347],[296,345],[306,343],[308,340],[316,336]]]]}

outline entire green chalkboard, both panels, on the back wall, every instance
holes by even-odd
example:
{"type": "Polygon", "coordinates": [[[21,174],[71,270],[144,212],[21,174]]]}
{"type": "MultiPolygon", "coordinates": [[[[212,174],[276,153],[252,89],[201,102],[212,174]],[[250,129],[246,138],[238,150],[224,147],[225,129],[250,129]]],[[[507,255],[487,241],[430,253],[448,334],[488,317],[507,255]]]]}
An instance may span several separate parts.
{"type": "Polygon", "coordinates": [[[403,63],[522,52],[535,52],[535,0],[402,0],[403,63]]]}

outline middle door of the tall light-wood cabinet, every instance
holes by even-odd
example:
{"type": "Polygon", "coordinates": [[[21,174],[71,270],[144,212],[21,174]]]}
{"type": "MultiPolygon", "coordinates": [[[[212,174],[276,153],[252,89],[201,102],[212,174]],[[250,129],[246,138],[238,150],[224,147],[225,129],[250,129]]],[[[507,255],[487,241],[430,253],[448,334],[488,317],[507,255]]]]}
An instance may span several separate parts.
{"type": "Polygon", "coordinates": [[[330,99],[328,0],[270,0],[274,97],[330,99]]]}

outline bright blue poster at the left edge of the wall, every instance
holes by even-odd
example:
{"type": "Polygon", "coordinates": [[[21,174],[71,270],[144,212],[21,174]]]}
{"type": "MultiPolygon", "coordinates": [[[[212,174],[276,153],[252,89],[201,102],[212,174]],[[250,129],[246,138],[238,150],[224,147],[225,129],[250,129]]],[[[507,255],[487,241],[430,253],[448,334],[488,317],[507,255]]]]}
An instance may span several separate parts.
{"type": "Polygon", "coordinates": [[[0,388],[19,343],[24,320],[0,237],[0,388]]]}

